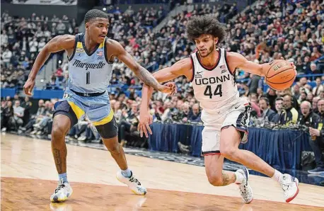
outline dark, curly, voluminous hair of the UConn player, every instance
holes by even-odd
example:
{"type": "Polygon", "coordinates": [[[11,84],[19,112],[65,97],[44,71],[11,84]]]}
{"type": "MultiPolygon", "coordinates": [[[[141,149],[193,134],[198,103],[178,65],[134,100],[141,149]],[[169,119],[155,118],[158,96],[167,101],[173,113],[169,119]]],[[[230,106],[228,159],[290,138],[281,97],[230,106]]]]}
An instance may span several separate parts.
{"type": "Polygon", "coordinates": [[[187,23],[186,34],[192,42],[195,42],[195,39],[201,35],[212,35],[219,38],[219,42],[222,42],[226,36],[226,30],[224,24],[219,23],[214,15],[208,14],[192,16],[187,23]]]}

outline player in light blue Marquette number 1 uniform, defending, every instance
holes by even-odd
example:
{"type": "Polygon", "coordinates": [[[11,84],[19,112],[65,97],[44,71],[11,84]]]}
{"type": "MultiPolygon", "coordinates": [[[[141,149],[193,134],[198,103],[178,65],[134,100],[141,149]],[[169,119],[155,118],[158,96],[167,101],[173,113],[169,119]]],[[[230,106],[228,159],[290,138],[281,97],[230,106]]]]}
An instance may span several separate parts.
{"type": "MultiPolygon", "coordinates": [[[[70,128],[83,115],[87,115],[96,126],[105,147],[120,166],[117,179],[127,184],[138,195],[145,195],[146,188],[134,178],[128,169],[124,151],[117,139],[117,124],[109,103],[108,85],[112,75],[112,62],[115,58],[132,69],[144,84],[158,91],[173,91],[158,84],[144,67],[141,67],[122,45],[106,38],[109,20],[106,13],[93,9],[85,16],[86,33],[78,35],[60,35],[42,48],[35,60],[28,81],[24,85],[26,94],[31,95],[35,86],[35,77],[52,52],[65,50],[69,59],[69,82],[64,98],[54,105],[52,126],[52,154],[59,174],[59,184],[51,195],[52,202],[62,202],[72,194],[66,175],[65,136],[70,128]]],[[[105,165],[99,164],[98,165],[105,165]]],[[[86,168],[86,166],[85,166],[86,168]]]]}

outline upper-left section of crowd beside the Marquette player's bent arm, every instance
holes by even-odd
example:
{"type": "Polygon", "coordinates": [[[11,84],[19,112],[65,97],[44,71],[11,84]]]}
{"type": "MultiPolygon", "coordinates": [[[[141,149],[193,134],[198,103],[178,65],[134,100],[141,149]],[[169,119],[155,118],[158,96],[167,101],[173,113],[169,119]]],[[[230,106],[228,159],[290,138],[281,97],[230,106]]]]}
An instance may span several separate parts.
{"type": "MultiPolygon", "coordinates": [[[[78,33],[76,21],[67,16],[13,18],[1,14],[1,88],[21,87],[35,58],[56,35],[78,33]]],[[[62,54],[60,54],[62,57],[62,54]]]]}

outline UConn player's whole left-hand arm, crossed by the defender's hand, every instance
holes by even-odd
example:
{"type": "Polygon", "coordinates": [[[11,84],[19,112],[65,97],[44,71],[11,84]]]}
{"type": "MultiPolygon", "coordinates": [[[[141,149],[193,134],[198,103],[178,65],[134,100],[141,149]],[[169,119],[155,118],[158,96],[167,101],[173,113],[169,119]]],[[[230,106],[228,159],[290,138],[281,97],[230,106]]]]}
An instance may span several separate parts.
{"type": "MultiPolygon", "coordinates": [[[[171,67],[166,67],[164,69],[155,72],[154,78],[160,83],[171,81],[178,76],[185,75],[187,79],[192,78],[192,64],[191,59],[186,58],[182,59],[171,67]]],[[[173,87],[176,90],[176,86],[174,83],[169,83],[168,86],[173,87]]],[[[153,93],[153,89],[150,86],[143,86],[141,90],[141,108],[140,108],[140,115],[139,115],[139,125],[137,130],[139,130],[141,137],[143,137],[143,133],[146,137],[149,137],[147,131],[152,134],[151,128],[149,125],[152,123],[153,118],[149,114],[149,101],[151,99],[153,93]]]]}

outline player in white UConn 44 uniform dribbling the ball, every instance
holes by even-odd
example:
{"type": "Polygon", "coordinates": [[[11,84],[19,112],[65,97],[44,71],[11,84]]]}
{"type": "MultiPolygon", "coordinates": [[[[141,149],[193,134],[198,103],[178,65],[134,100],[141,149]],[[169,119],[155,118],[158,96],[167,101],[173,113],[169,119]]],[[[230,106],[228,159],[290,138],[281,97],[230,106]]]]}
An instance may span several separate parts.
{"type": "MultiPolygon", "coordinates": [[[[253,152],[238,149],[240,142],[247,141],[251,108],[248,101],[239,97],[235,70],[240,68],[264,76],[264,64],[249,62],[236,52],[226,52],[217,47],[224,40],[225,30],[212,15],[193,16],[186,27],[187,37],[195,42],[197,52],[154,73],[154,77],[160,83],[178,76],[185,76],[192,81],[195,98],[202,107],[202,154],[209,183],[213,186],[236,183],[243,201],[250,203],[253,200],[248,169],[243,167],[236,172],[222,171],[225,157],[279,182],[284,190],[284,198],[289,203],[299,193],[298,179],[273,169],[253,152]]],[[[148,110],[152,92],[149,86],[143,87],[139,130],[146,137],[147,131],[152,133],[149,127],[152,117],[148,110]]]]}

